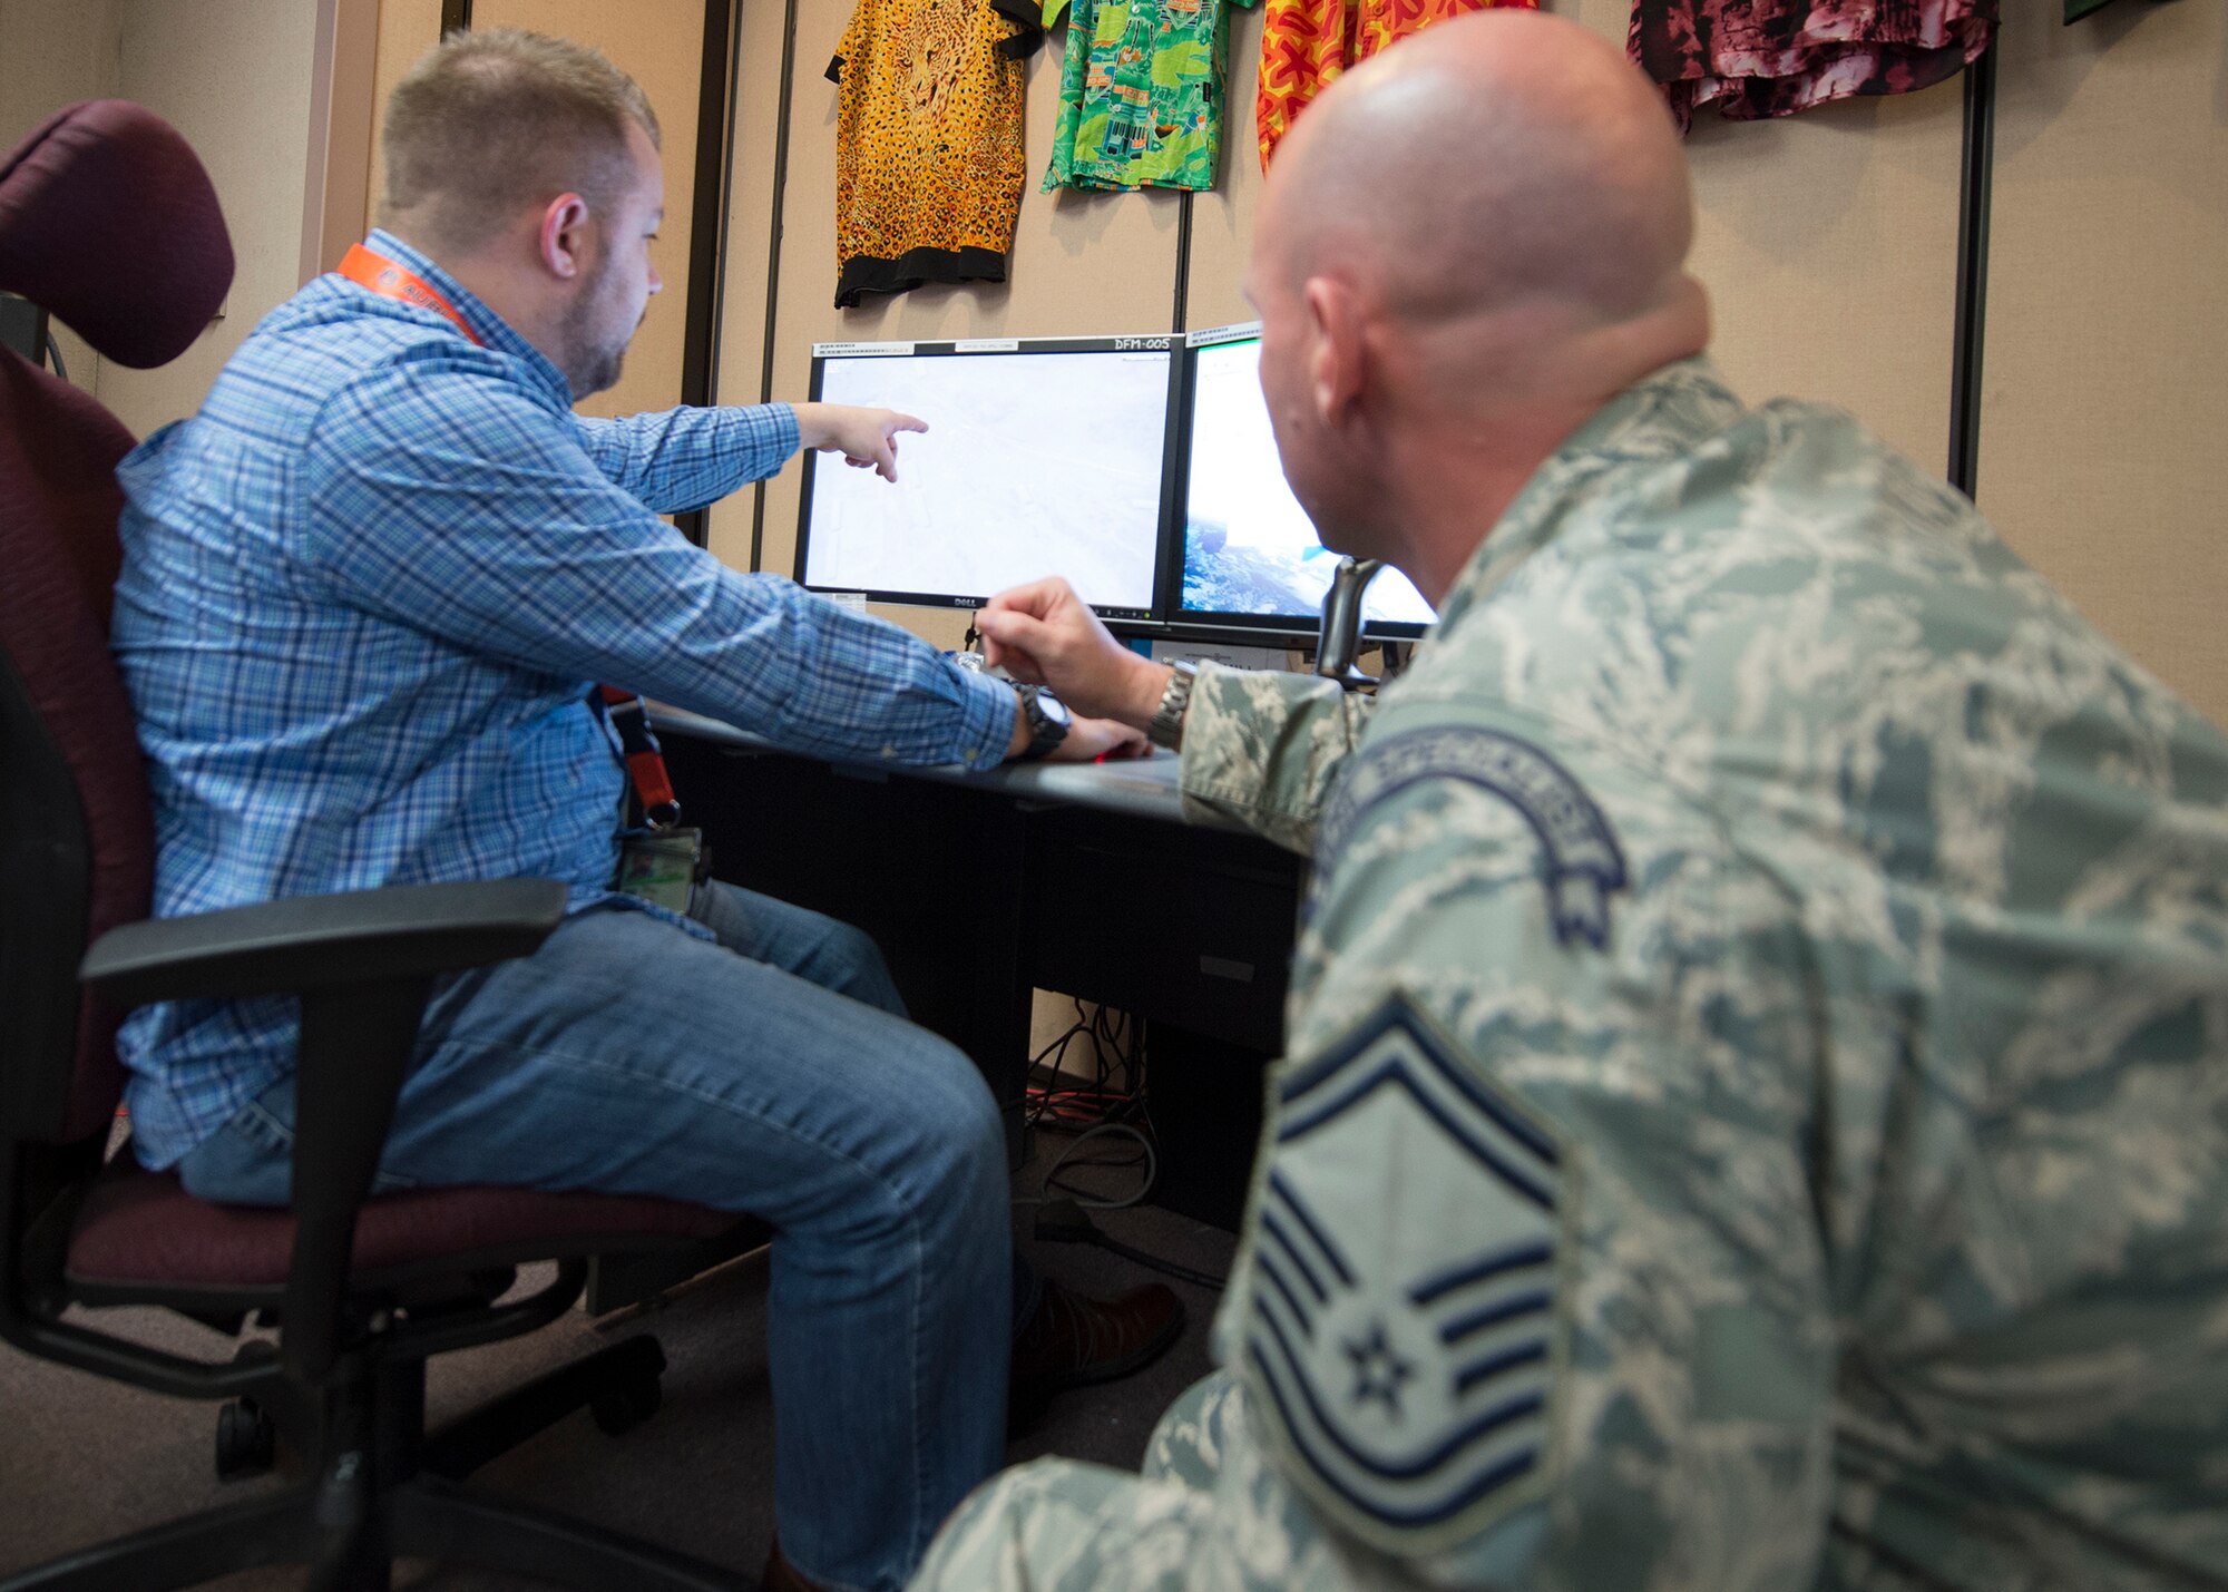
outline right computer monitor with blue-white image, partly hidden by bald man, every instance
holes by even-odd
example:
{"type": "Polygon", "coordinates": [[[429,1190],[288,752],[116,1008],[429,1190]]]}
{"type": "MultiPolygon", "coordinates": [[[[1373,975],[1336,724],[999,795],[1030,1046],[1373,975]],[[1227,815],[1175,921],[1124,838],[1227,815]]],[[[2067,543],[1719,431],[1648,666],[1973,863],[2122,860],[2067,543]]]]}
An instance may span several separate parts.
{"type": "MultiPolygon", "coordinates": [[[[1176,390],[1188,446],[1172,493],[1183,537],[1170,620],[1312,635],[1339,555],[1283,482],[1259,323],[1188,334],[1176,390]]],[[[1397,569],[1379,571],[1361,604],[1364,635],[1384,640],[1421,635],[1433,618],[1397,569]]]]}

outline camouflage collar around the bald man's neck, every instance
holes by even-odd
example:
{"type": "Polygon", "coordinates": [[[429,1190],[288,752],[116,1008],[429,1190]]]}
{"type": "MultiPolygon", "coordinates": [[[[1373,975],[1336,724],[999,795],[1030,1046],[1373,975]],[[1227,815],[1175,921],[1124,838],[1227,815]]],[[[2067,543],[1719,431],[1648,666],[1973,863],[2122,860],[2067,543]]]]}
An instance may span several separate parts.
{"type": "Polygon", "coordinates": [[[1680,359],[1618,392],[1533,470],[1524,491],[1486,533],[1439,604],[1444,633],[1493,595],[1524,560],[1562,531],[1571,495],[1611,464],[1669,459],[1740,415],[1740,399],[1707,355],[1680,359]]]}

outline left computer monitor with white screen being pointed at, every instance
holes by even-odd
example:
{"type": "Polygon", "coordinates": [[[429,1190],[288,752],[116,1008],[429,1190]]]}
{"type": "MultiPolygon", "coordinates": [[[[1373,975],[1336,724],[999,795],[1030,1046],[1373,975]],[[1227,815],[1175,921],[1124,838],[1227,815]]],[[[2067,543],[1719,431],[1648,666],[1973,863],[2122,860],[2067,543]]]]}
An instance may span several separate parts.
{"type": "Polygon", "coordinates": [[[811,455],[798,580],[978,609],[1065,575],[1098,613],[1154,618],[1170,337],[818,343],[811,395],[929,421],[898,482],[811,455]]]}

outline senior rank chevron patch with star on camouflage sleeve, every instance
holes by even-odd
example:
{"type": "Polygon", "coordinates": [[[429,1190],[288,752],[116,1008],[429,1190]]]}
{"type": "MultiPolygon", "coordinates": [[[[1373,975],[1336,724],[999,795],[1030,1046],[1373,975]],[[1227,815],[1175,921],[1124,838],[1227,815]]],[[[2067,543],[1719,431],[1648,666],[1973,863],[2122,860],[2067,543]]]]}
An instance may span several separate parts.
{"type": "Polygon", "coordinates": [[[1395,994],[1281,1086],[1241,1373],[1286,1472],[1395,1554],[1551,1474],[1577,1175],[1562,1135],[1395,994]]]}

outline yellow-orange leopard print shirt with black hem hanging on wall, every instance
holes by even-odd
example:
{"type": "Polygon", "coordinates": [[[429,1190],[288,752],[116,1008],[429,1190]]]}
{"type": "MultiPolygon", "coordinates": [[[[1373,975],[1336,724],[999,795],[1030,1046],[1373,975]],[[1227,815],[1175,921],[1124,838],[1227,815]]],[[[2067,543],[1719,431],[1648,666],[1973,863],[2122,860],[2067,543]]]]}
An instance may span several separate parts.
{"type": "Polygon", "coordinates": [[[1040,38],[991,0],[858,0],[829,62],[838,310],[927,281],[1005,281],[1023,60],[1040,38]]]}

